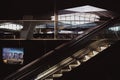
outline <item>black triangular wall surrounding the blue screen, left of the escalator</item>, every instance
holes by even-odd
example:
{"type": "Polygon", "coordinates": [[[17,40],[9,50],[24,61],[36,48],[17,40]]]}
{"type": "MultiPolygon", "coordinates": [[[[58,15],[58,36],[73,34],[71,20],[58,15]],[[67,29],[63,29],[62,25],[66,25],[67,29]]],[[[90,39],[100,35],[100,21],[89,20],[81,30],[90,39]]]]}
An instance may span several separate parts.
{"type": "Polygon", "coordinates": [[[0,80],[2,77],[7,76],[9,73],[16,71],[20,67],[67,41],[68,40],[0,40],[0,80]],[[4,64],[2,62],[3,48],[24,48],[24,64],[4,64]]]}

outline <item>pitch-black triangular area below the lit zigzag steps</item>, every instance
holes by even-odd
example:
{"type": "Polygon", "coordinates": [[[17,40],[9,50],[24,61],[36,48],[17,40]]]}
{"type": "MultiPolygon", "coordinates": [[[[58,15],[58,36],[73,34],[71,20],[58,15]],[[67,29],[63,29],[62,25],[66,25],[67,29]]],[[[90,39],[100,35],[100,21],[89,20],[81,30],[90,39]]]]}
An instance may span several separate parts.
{"type": "Polygon", "coordinates": [[[120,80],[120,41],[54,80],[120,80]]]}

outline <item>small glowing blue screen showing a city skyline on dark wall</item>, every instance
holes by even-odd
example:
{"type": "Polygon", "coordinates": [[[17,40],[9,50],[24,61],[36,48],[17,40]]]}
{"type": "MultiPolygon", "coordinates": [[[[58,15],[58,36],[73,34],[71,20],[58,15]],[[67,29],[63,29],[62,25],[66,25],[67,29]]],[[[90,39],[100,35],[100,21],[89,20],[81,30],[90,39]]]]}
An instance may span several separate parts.
{"type": "Polygon", "coordinates": [[[23,48],[3,48],[3,63],[6,64],[23,64],[23,48]]]}

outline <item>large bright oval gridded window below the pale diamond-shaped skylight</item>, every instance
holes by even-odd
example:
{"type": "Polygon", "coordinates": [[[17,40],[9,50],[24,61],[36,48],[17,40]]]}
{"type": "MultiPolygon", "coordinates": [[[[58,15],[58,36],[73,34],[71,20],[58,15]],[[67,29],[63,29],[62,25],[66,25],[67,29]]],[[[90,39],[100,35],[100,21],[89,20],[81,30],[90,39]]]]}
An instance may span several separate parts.
{"type": "MultiPolygon", "coordinates": [[[[55,16],[51,17],[55,20],[55,16]]],[[[69,25],[80,25],[99,21],[100,17],[92,13],[70,13],[58,15],[58,21],[69,25]]]]}

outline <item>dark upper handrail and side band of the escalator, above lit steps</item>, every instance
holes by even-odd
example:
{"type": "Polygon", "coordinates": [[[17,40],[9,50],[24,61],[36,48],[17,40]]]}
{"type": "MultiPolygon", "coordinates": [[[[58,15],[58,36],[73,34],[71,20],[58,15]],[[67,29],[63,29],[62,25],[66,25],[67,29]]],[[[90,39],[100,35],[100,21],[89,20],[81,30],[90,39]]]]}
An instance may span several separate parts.
{"type": "MultiPolygon", "coordinates": [[[[93,27],[93,28],[87,30],[85,33],[83,33],[82,35],[80,35],[80,36],[78,36],[77,38],[73,39],[72,41],[60,45],[60,47],[57,47],[57,48],[55,48],[54,50],[51,50],[50,52],[46,53],[46,54],[43,55],[42,57],[34,60],[33,62],[31,62],[31,63],[29,63],[28,65],[24,66],[23,68],[19,69],[19,70],[16,71],[15,73],[13,73],[13,74],[11,74],[10,76],[8,76],[7,78],[5,78],[5,80],[9,80],[10,78],[15,77],[17,74],[18,74],[18,76],[16,76],[16,78],[24,75],[25,73],[27,73],[27,72],[29,72],[29,71],[31,72],[31,69],[33,69],[33,66],[35,67],[36,64],[38,64],[38,63],[40,64],[40,62],[41,62],[43,59],[45,59],[46,57],[51,56],[51,55],[54,55],[55,53],[61,53],[61,52],[63,52],[63,51],[66,50],[66,49],[68,50],[68,49],[71,49],[71,48],[73,48],[73,47],[76,47],[76,45],[78,45],[78,43],[80,43],[80,41],[81,41],[81,42],[84,42],[83,40],[85,40],[85,39],[88,38],[88,37],[91,37],[91,35],[93,35],[93,34],[96,33],[97,31],[105,28],[106,25],[108,25],[108,24],[110,24],[110,23],[112,24],[115,20],[116,20],[116,19],[110,19],[109,21],[103,23],[103,24],[100,25],[100,26],[93,27]],[[66,47],[68,47],[68,48],[66,48],[66,47]],[[61,51],[61,50],[62,50],[62,51],[61,51]],[[28,70],[28,68],[30,68],[30,69],[28,70]]],[[[85,42],[86,42],[86,41],[85,41],[85,42]]],[[[80,43],[80,44],[81,44],[81,43],[80,43]]],[[[80,44],[79,44],[79,45],[80,45],[80,44]]],[[[82,43],[82,44],[83,44],[83,43],[82,43]]],[[[61,54],[63,54],[63,53],[61,53],[61,54]]],[[[68,55],[71,55],[71,54],[67,54],[66,56],[68,56],[68,55]]],[[[63,57],[63,58],[64,58],[64,57],[63,57]]],[[[42,63],[41,63],[41,64],[42,64],[42,63]]],[[[37,67],[38,67],[38,65],[37,65],[37,67]]]]}

